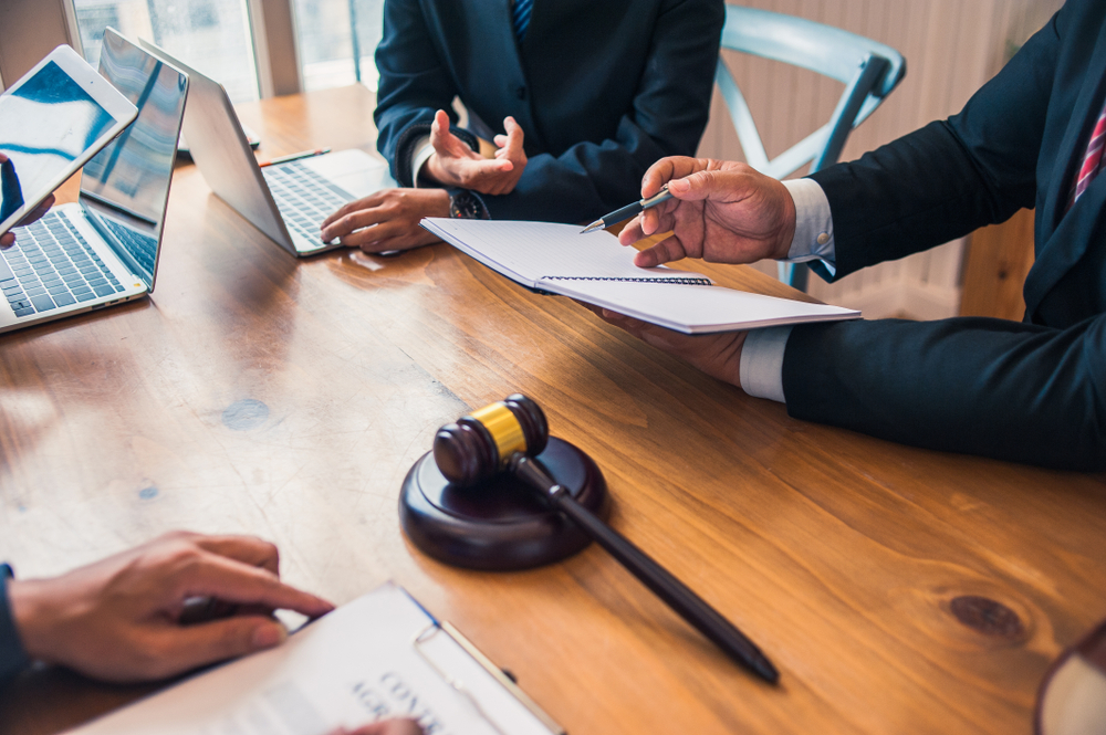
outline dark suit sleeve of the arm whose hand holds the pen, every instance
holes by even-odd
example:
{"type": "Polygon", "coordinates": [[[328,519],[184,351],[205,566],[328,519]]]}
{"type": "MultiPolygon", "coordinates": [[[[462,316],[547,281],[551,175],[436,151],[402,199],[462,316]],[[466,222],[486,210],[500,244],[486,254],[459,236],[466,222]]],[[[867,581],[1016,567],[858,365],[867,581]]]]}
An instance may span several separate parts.
{"type": "Polygon", "coordinates": [[[928,250],[1033,207],[1063,11],[960,114],[811,175],[833,212],[836,272],[928,250]],[[1011,124],[1016,120],[1016,124],[1011,124]]]}

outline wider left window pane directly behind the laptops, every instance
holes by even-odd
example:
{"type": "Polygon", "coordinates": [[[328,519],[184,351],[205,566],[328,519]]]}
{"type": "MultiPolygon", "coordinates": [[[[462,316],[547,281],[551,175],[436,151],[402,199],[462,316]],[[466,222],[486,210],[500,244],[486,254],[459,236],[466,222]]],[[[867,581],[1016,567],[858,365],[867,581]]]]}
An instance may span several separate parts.
{"type": "Polygon", "coordinates": [[[100,63],[108,25],[148,39],[220,82],[230,98],[258,98],[258,71],[246,0],[74,0],[85,59],[100,63]]]}

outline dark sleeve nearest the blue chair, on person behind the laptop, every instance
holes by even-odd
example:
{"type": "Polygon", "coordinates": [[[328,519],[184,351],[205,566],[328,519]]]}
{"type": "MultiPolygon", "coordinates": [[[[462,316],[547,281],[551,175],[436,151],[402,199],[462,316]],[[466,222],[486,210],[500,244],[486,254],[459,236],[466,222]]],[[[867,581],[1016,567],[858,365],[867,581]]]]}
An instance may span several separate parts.
{"type": "MultiPolygon", "coordinates": [[[[613,135],[532,157],[514,191],[483,198],[492,219],[591,221],[638,199],[641,177],[660,158],[693,156],[710,114],[723,21],[721,2],[667,3],[633,106],[613,135]]],[[[582,99],[581,108],[601,103],[582,99]]]]}

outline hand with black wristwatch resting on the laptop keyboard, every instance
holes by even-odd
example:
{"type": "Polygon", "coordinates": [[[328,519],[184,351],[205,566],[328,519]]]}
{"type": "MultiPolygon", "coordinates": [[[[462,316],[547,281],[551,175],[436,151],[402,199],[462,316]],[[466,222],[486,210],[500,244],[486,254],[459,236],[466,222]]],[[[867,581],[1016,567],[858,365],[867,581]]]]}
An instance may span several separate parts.
{"type": "Polygon", "coordinates": [[[438,242],[418,225],[424,217],[449,217],[444,189],[384,189],[352,201],[323,220],[323,242],[338,239],[366,253],[409,250],[438,242]]]}

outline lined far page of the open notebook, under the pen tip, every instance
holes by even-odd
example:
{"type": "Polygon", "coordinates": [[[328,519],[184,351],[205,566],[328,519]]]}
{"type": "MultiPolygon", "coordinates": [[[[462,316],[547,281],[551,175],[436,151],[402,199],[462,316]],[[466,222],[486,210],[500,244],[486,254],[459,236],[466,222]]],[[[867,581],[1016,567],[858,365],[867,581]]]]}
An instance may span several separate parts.
{"type": "Polygon", "coordinates": [[[609,232],[578,224],[427,218],[424,227],[461,252],[528,286],[542,279],[706,279],[667,267],[634,265],[637,251],[609,232]]]}

